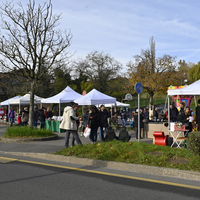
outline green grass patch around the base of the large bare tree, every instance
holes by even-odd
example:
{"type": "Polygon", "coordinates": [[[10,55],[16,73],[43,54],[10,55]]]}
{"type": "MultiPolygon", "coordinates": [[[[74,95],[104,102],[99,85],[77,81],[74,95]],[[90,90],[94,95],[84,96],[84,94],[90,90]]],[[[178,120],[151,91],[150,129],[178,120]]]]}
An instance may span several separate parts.
{"type": "Polygon", "coordinates": [[[54,136],[55,134],[46,129],[36,129],[31,128],[29,126],[13,126],[8,127],[5,134],[3,135],[4,138],[40,138],[40,137],[49,137],[54,136]]]}

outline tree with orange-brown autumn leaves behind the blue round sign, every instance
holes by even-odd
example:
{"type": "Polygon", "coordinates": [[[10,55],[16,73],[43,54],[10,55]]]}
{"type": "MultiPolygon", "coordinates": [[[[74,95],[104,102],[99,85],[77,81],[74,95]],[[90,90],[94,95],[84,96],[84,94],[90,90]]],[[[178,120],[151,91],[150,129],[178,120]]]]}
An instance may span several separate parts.
{"type": "Polygon", "coordinates": [[[137,82],[143,84],[143,88],[150,95],[150,105],[153,105],[154,94],[166,93],[167,87],[179,84],[179,72],[176,71],[175,57],[164,55],[155,57],[155,41],[153,37],[149,41],[150,48],[142,50],[136,55],[135,62],[128,63],[130,85],[137,82]]]}

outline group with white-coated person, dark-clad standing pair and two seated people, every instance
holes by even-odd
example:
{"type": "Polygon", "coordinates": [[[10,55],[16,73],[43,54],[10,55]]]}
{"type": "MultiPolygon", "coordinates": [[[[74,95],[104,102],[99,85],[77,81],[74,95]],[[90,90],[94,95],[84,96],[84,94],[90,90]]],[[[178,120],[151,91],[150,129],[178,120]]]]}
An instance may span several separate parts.
{"type": "MultiPolygon", "coordinates": [[[[78,127],[79,127],[79,117],[78,117],[78,104],[74,102],[70,102],[67,107],[64,108],[63,112],[63,120],[60,124],[60,129],[66,130],[65,137],[65,147],[69,147],[69,138],[70,133],[72,134],[72,146],[74,146],[74,141],[77,144],[82,145],[82,142],[78,135],[78,127]]],[[[130,136],[126,128],[123,129],[119,133],[119,137],[116,136],[115,131],[112,126],[108,123],[108,118],[110,118],[110,113],[105,109],[104,105],[101,105],[100,109],[96,106],[92,106],[88,111],[86,110],[82,115],[82,132],[84,132],[85,128],[88,126],[91,129],[90,132],[90,141],[92,144],[97,142],[97,131],[98,128],[99,138],[101,141],[110,141],[113,139],[118,139],[121,141],[129,141],[130,136]],[[104,136],[104,133],[105,136],[104,136]]]]}

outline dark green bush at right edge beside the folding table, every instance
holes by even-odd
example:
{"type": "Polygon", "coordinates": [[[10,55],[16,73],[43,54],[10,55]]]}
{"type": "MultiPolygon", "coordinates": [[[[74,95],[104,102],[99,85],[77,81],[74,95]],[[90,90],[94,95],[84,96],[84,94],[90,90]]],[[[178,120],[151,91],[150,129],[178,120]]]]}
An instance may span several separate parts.
{"type": "Polygon", "coordinates": [[[188,147],[192,153],[200,155],[200,131],[188,134],[188,147]]]}

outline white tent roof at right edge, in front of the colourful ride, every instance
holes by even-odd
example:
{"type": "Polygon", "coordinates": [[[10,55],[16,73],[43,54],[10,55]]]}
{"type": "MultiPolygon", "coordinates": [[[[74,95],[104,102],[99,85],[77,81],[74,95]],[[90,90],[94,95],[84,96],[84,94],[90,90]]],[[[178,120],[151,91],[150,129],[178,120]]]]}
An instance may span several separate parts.
{"type": "Polygon", "coordinates": [[[200,95],[200,80],[181,89],[170,89],[167,91],[169,96],[172,95],[200,95]]]}

